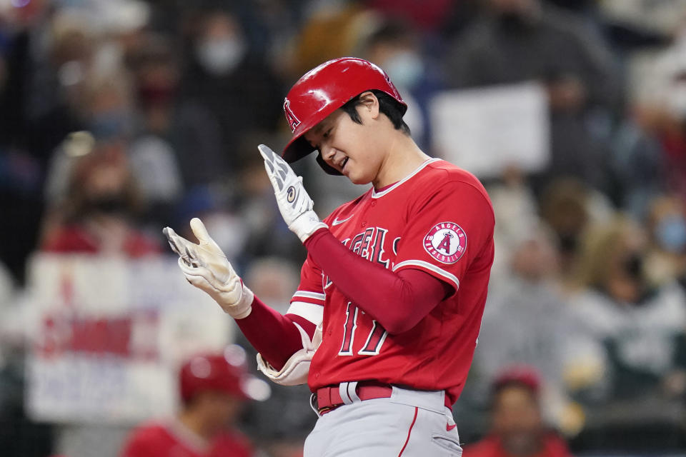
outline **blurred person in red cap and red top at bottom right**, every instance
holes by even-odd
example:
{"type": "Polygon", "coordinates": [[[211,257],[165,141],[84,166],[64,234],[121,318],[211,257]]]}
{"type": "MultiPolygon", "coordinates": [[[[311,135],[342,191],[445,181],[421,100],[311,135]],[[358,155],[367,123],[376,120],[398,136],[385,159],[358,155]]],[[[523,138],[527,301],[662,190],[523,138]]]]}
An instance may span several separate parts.
{"type": "Polygon", "coordinates": [[[542,421],[540,381],[525,366],[507,368],[492,384],[491,430],[464,447],[464,457],[567,457],[567,444],[542,421]]]}

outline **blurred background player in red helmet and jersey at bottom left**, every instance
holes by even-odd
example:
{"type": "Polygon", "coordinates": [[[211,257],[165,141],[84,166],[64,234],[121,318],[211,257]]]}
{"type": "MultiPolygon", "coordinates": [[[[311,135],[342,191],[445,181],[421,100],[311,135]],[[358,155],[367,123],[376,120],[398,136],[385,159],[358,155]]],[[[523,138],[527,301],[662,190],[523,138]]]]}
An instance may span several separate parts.
{"type": "Polygon", "coordinates": [[[178,415],[136,428],[121,457],[252,457],[249,440],[234,426],[244,403],[264,399],[265,388],[248,373],[240,346],[194,356],[179,371],[178,415]]]}

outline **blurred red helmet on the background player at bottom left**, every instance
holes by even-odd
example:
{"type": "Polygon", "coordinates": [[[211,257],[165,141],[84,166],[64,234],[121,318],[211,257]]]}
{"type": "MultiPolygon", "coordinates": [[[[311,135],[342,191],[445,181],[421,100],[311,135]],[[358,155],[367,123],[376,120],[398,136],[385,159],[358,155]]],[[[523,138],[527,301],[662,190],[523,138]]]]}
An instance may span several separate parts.
{"type": "Polygon", "coordinates": [[[247,370],[246,354],[238,345],[223,353],[203,353],[186,361],[179,371],[181,398],[187,403],[202,391],[230,393],[244,400],[264,400],[269,386],[247,370]]]}

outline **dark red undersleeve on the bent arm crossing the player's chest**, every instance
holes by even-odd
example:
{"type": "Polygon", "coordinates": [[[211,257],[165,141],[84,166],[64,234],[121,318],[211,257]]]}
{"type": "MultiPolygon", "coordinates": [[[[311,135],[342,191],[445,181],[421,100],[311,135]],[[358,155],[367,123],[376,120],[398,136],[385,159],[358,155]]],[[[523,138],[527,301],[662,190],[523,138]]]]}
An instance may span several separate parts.
{"type": "Polygon", "coordinates": [[[424,271],[407,268],[394,273],[369,262],[327,229],[307,238],[305,247],[337,288],[389,333],[414,327],[453,291],[452,286],[424,271]]]}

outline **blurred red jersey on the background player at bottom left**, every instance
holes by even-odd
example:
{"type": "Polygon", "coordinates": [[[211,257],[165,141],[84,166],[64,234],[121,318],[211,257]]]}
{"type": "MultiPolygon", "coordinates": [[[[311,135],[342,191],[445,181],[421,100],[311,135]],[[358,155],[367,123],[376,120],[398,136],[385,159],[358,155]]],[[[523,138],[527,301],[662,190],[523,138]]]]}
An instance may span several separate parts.
{"type": "Polygon", "coordinates": [[[207,442],[178,421],[146,423],[124,444],[121,457],[252,457],[246,437],[234,431],[207,442]]]}

